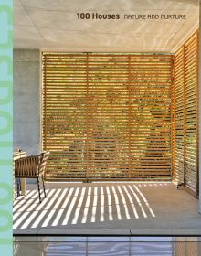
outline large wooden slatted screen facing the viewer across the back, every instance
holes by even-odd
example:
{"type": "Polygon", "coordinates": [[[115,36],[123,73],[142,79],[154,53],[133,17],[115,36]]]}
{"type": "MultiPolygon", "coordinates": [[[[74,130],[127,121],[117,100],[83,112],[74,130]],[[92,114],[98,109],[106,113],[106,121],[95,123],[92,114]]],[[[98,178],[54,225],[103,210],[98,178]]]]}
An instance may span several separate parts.
{"type": "Polygon", "coordinates": [[[171,180],[171,55],[43,53],[48,179],[171,180]]]}

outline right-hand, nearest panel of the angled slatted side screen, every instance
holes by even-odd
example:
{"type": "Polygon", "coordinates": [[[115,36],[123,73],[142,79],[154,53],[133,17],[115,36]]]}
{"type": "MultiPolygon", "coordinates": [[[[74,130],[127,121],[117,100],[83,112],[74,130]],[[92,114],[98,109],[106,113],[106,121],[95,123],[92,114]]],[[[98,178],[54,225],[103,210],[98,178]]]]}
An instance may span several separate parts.
{"type": "Polygon", "coordinates": [[[185,183],[196,190],[198,161],[198,34],[185,44],[185,183]]]}

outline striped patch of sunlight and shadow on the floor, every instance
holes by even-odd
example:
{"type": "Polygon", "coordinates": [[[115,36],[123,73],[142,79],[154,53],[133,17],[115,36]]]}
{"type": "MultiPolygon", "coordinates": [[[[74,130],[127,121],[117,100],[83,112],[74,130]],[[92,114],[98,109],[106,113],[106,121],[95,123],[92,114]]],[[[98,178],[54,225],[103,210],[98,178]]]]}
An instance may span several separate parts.
{"type": "Polygon", "coordinates": [[[123,219],[150,219],[155,213],[137,184],[93,184],[47,189],[38,203],[37,190],[14,203],[13,229],[65,228],[123,219]]]}

